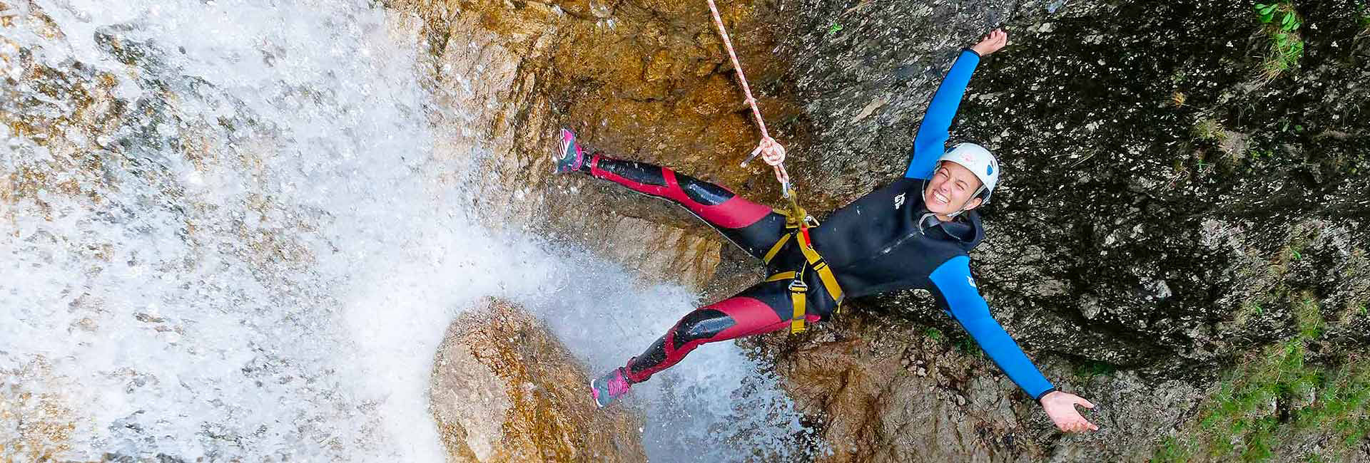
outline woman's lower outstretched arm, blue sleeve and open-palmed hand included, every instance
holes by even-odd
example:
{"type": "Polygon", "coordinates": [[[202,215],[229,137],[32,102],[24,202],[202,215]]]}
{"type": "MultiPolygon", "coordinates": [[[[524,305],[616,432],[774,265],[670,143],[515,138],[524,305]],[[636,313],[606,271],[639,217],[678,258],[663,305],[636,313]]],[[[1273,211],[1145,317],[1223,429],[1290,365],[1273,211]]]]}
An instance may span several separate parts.
{"type": "Polygon", "coordinates": [[[943,262],[929,276],[934,294],[947,305],[948,311],[975,339],[980,348],[989,355],[1010,380],[1029,396],[1043,404],[1056,427],[1066,432],[1099,429],[1075,411],[1080,403],[1088,408],[1093,404],[1071,393],[1056,391],[1041,374],[1041,370],[1028,359],[1008,332],[989,314],[989,305],[980,296],[975,280],[970,276],[970,258],[956,257],[943,262]],[[1078,400],[1077,400],[1078,399],[1078,400]]]}

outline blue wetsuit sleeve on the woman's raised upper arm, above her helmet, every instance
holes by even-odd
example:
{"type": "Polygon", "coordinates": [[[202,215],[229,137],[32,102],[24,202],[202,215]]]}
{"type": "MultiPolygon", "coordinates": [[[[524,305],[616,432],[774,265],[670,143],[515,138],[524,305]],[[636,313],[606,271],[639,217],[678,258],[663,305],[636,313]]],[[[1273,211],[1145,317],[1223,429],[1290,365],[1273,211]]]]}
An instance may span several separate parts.
{"type": "Polygon", "coordinates": [[[980,64],[980,55],[970,49],[962,51],[956,63],[947,71],[941,86],[933,94],[933,102],[927,104],[927,113],[923,115],[922,124],[918,126],[918,135],[914,137],[914,154],[908,161],[908,171],[904,176],[910,179],[932,178],[937,158],[947,149],[947,134],[951,130],[951,120],[956,116],[960,98],[966,96],[966,85],[975,74],[980,64]]]}

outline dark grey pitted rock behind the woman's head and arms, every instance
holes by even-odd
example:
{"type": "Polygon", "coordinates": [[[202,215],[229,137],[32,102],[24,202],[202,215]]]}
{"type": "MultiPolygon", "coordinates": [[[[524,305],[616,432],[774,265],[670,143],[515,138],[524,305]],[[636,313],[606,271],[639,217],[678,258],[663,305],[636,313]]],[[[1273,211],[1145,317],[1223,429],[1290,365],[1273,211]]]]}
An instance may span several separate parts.
{"type": "MultiPolygon", "coordinates": [[[[1366,97],[1330,82],[1370,75],[1356,64],[1366,45],[1352,18],[1334,8],[1302,11],[1303,68],[1267,81],[1256,71],[1269,38],[1252,36],[1259,25],[1238,1],[804,5],[793,74],[818,131],[804,153],[821,156],[799,156],[799,178],[833,205],[897,176],[958,49],[991,25],[1010,29],[1011,45],[977,71],[952,142],[984,143],[1006,165],[974,255],[997,306],[1107,333],[1066,346],[1051,336],[1052,350],[1140,366],[1230,354],[1211,343],[1233,337],[1275,339],[1217,326],[1286,283],[1241,273],[1278,266],[1302,234],[1363,243],[1370,123],[1351,108],[1366,97]],[[841,30],[821,27],[829,22],[841,30]],[[1207,122],[1221,141],[1196,134],[1207,122]],[[1237,138],[1244,149],[1226,153],[1237,138]]],[[[1293,285],[1363,300],[1334,294],[1349,283],[1293,285]]]]}

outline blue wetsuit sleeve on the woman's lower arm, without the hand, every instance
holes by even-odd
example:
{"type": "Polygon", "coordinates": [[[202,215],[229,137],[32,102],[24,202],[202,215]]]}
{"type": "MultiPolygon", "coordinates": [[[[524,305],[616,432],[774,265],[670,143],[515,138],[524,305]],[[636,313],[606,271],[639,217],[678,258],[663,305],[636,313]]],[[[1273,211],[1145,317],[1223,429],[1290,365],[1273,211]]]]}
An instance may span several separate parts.
{"type": "Polygon", "coordinates": [[[970,277],[969,257],[962,255],[943,262],[933,270],[930,279],[943,300],[947,302],[951,315],[966,328],[980,348],[985,350],[985,354],[999,365],[1000,370],[1004,370],[1004,374],[1014,384],[1018,384],[1033,399],[1041,399],[1047,392],[1056,389],[1028,359],[1018,343],[989,315],[989,305],[980,296],[975,280],[970,277]]]}

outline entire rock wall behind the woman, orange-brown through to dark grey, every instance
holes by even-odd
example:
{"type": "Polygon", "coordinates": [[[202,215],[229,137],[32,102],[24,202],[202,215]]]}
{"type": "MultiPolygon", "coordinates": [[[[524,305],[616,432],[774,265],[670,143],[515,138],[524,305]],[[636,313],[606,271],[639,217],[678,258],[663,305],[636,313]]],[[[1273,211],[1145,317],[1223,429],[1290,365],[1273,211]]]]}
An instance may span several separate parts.
{"type": "MultiPolygon", "coordinates": [[[[567,126],[592,149],[777,197],[762,168],[732,167],[755,132],[703,3],[392,7],[425,22],[449,104],[522,102],[448,138],[490,173],[489,219],[525,217],[711,300],[755,281],[752,259],[678,208],[545,173],[567,126]]],[[[897,178],[958,51],[1008,27],[952,130],[1006,172],[973,268],[996,318],[1058,387],[1100,404],[1104,427],[1062,437],[914,291],[854,300],[806,336],[744,341],[777,359],[830,460],[1149,460],[1162,440],[1204,433],[1207,397],[1248,352],[1295,343],[1337,365],[1363,350],[1370,36],[1351,3],[1295,7],[1303,56],[1271,75],[1274,36],[1243,1],[722,4],[814,212],[897,178]]],[[[1270,415],[1289,415],[1285,399],[1270,415]]],[[[1300,436],[1288,443],[1329,440],[1300,436]]]]}

